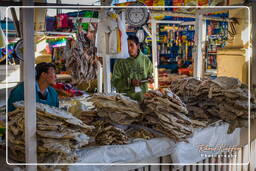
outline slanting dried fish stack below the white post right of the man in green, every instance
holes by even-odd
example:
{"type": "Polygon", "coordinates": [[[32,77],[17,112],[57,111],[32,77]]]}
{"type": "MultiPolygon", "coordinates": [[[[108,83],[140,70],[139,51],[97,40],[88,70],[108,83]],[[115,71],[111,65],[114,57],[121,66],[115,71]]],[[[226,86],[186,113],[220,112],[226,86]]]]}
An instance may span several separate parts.
{"type": "Polygon", "coordinates": [[[175,141],[185,140],[192,134],[185,104],[169,89],[149,91],[144,96],[143,106],[146,122],[153,129],[175,141]]]}

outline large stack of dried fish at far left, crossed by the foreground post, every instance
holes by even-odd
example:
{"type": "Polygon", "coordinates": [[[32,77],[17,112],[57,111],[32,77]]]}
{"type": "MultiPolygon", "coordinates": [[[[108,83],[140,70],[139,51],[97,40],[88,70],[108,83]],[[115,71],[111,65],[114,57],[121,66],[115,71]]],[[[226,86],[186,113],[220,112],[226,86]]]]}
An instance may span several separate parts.
{"type": "MultiPolygon", "coordinates": [[[[17,102],[14,105],[17,109],[9,113],[8,123],[9,157],[25,162],[24,103],[17,102]]],[[[70,113],[55,107],[37,103],[36,108],[38,163],[75,162],[75,150],[88,144],[86,133],[91,132],[94,126],[88,126],[70,113]]],[[[55,167],[47,167],[47,170],[55,167]]]]}

